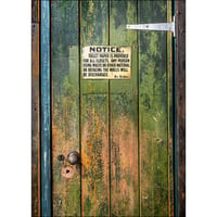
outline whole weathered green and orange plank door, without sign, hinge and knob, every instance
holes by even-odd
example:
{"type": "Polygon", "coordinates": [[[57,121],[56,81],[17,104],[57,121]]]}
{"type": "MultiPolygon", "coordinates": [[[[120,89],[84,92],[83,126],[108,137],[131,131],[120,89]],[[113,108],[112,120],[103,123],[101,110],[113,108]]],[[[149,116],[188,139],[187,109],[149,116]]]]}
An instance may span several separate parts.
{"type": "Polygon", "coordinates": [[[126,30],[171,21],[171,1],[50,7],[53,216],[173,216],[171,34],[126,30]],[[131,78],[84,79],[87,46],[130,47],[131,78]]]}

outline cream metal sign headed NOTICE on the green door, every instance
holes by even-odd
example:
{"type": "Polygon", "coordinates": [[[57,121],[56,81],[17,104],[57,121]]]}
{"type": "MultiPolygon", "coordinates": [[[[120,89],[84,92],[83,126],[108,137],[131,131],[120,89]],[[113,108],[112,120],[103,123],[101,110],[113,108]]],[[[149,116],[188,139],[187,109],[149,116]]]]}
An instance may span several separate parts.
{"type": "Polygon", "coordinates": [[[81,73],[84,79],[130,79],[131,47],[84,47],[81,73]]]}

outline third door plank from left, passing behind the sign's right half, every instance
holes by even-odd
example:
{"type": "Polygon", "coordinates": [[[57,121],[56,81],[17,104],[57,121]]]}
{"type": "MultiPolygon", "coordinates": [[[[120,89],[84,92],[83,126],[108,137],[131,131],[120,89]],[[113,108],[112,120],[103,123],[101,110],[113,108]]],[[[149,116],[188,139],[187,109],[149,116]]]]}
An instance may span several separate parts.
{"type": "Polygon", "coordinates": [[[137,1],[110,3],[110,44],[131,46],[131,79],[110,81],[111,215],[139,215],[137,1]]]}

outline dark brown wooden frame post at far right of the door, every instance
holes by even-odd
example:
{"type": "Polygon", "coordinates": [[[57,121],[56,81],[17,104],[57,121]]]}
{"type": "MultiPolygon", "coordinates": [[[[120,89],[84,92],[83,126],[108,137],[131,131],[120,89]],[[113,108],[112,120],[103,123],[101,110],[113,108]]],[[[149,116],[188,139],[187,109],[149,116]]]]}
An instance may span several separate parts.
{"type": "Polygon", "coordinates": [[[186,216],[186,1],[176,1],[178,216],[186,216]]]}

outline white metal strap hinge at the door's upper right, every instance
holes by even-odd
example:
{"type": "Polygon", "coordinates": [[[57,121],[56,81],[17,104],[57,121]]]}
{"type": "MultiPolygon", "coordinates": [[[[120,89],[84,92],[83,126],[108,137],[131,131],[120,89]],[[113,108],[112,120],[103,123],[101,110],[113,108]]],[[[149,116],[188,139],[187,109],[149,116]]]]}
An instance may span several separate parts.
{"type": "Polygon", "coordinates": [[[175,35],[175,16],[170,23],[156,23],[156,24],[127,24],[126,29],[131,30],[162,30],[171,31],[175,35]]]}

